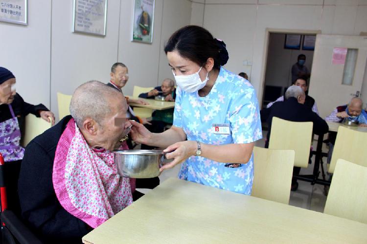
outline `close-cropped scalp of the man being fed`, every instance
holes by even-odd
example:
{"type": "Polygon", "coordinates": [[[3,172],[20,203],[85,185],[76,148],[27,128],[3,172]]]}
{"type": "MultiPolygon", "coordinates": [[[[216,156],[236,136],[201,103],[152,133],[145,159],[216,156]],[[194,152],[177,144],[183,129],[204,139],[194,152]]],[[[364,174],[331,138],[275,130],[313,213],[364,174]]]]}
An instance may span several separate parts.
{"type": "Polygon", "coordinates": [[[70,114],[79,128],[87,118],[101,124],[112,111],[115,102],[127,107],[123,94],[100,81],[88,81],[74,91],[70,102],[70,114]]]}

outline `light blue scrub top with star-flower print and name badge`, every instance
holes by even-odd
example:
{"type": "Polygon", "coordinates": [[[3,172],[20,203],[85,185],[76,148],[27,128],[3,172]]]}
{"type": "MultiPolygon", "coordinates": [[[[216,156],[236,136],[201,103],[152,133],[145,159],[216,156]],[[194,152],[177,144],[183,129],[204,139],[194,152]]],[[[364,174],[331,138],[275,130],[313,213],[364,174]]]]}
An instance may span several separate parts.
{"type": "MultiPolygon", "coordinates": [[[[249,81],[223,67],[204,98],[198,92],[187,93],[177,88],[173,125],[184,130],[187,140],[206,144],[250,143],[262,138],[255,90],[249,81]],[[214,134],[213,124],[229,126],[229,134],[214,134]]],[[[250,195],[253,154],[240,167],[225,165],[193,156],[182,163],[179,178],[250,195]]]]}

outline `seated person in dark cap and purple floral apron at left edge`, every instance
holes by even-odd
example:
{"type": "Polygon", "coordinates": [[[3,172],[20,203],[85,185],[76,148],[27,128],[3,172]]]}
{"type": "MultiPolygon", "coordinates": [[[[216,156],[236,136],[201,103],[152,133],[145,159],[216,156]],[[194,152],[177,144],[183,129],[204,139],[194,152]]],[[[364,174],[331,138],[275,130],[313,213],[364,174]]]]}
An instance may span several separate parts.
{"type": "Polygon", "coordinates": [[[21,128],[20,122],[29,113],[42,117],[49,122],[48,117],[55,117],[43,104],[32,105],[24,102],[23,98],[15,92],[15,76],[6,68],[0,67],[0,153],[5,162],[6,174],[4,181],[7,185],[9,206],[19,210],[17,200],[17,181],[19,167],[23,159],[24,148],[20,146],[21,128]],[[19,121],[18,121],[19,120],[19,121]]]}

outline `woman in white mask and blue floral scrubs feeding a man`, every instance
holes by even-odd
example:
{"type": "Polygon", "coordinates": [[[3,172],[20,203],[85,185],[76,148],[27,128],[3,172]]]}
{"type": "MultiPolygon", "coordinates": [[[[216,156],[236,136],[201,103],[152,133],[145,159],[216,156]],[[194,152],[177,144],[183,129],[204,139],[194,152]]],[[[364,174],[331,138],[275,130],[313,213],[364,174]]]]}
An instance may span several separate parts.
{"type": "Polygon", "coordinates": [[[182,163],[180,179],[250,195],[253,144],[262,138],[251,83],[222,67],[226,45],[202,27],[179,29],[164,51],[178,85],[173,126],[154,134],[132,122],[133,140],[166,147],[174,160],[161,170],[182,163]]]}

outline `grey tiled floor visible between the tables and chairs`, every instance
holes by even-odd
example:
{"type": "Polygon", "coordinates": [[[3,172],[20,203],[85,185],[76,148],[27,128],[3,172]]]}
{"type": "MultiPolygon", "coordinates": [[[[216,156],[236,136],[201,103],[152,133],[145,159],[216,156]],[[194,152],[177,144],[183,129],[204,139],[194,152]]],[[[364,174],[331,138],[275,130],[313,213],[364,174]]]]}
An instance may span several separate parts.
{"type": "MultiPolygon", "coordinates": [[[[263,131],[263,139],[255,142],[256,146],[264,147],[265,137],[267,131],[263,131]]],[[[316,148],[317,141],[314,141],[314,148],[316,148]]],[[[323,151],[327,151],[326,148],[323,151]]],[[[308,168],[302,168],[300,174],[312,174],[314,168],[315,156],[312,157],[312,164],[309,164],[308,168]]],[[[326,172],[326,166],[325,172],[326,172]]],[[[165,181],[170,177],[177,177],[180,170],[180,165],[168,170],[164,170],[160,176],[161,182],[165,181]]],[[[326,179],[328,176],[326,175],[326,179]]],[[[138,189],[139,191],[146,193],[149,189],[138,189]]],[[[311,209],[318,212],[323,212],[326,202],[326,196],[324,195],[324,186],[322,185],[311,185],[311,183],[298,181],[298,190],[295,192],[290,192],[289,204],[293,206],[298,206],[302,208],[311,209]]]]}

